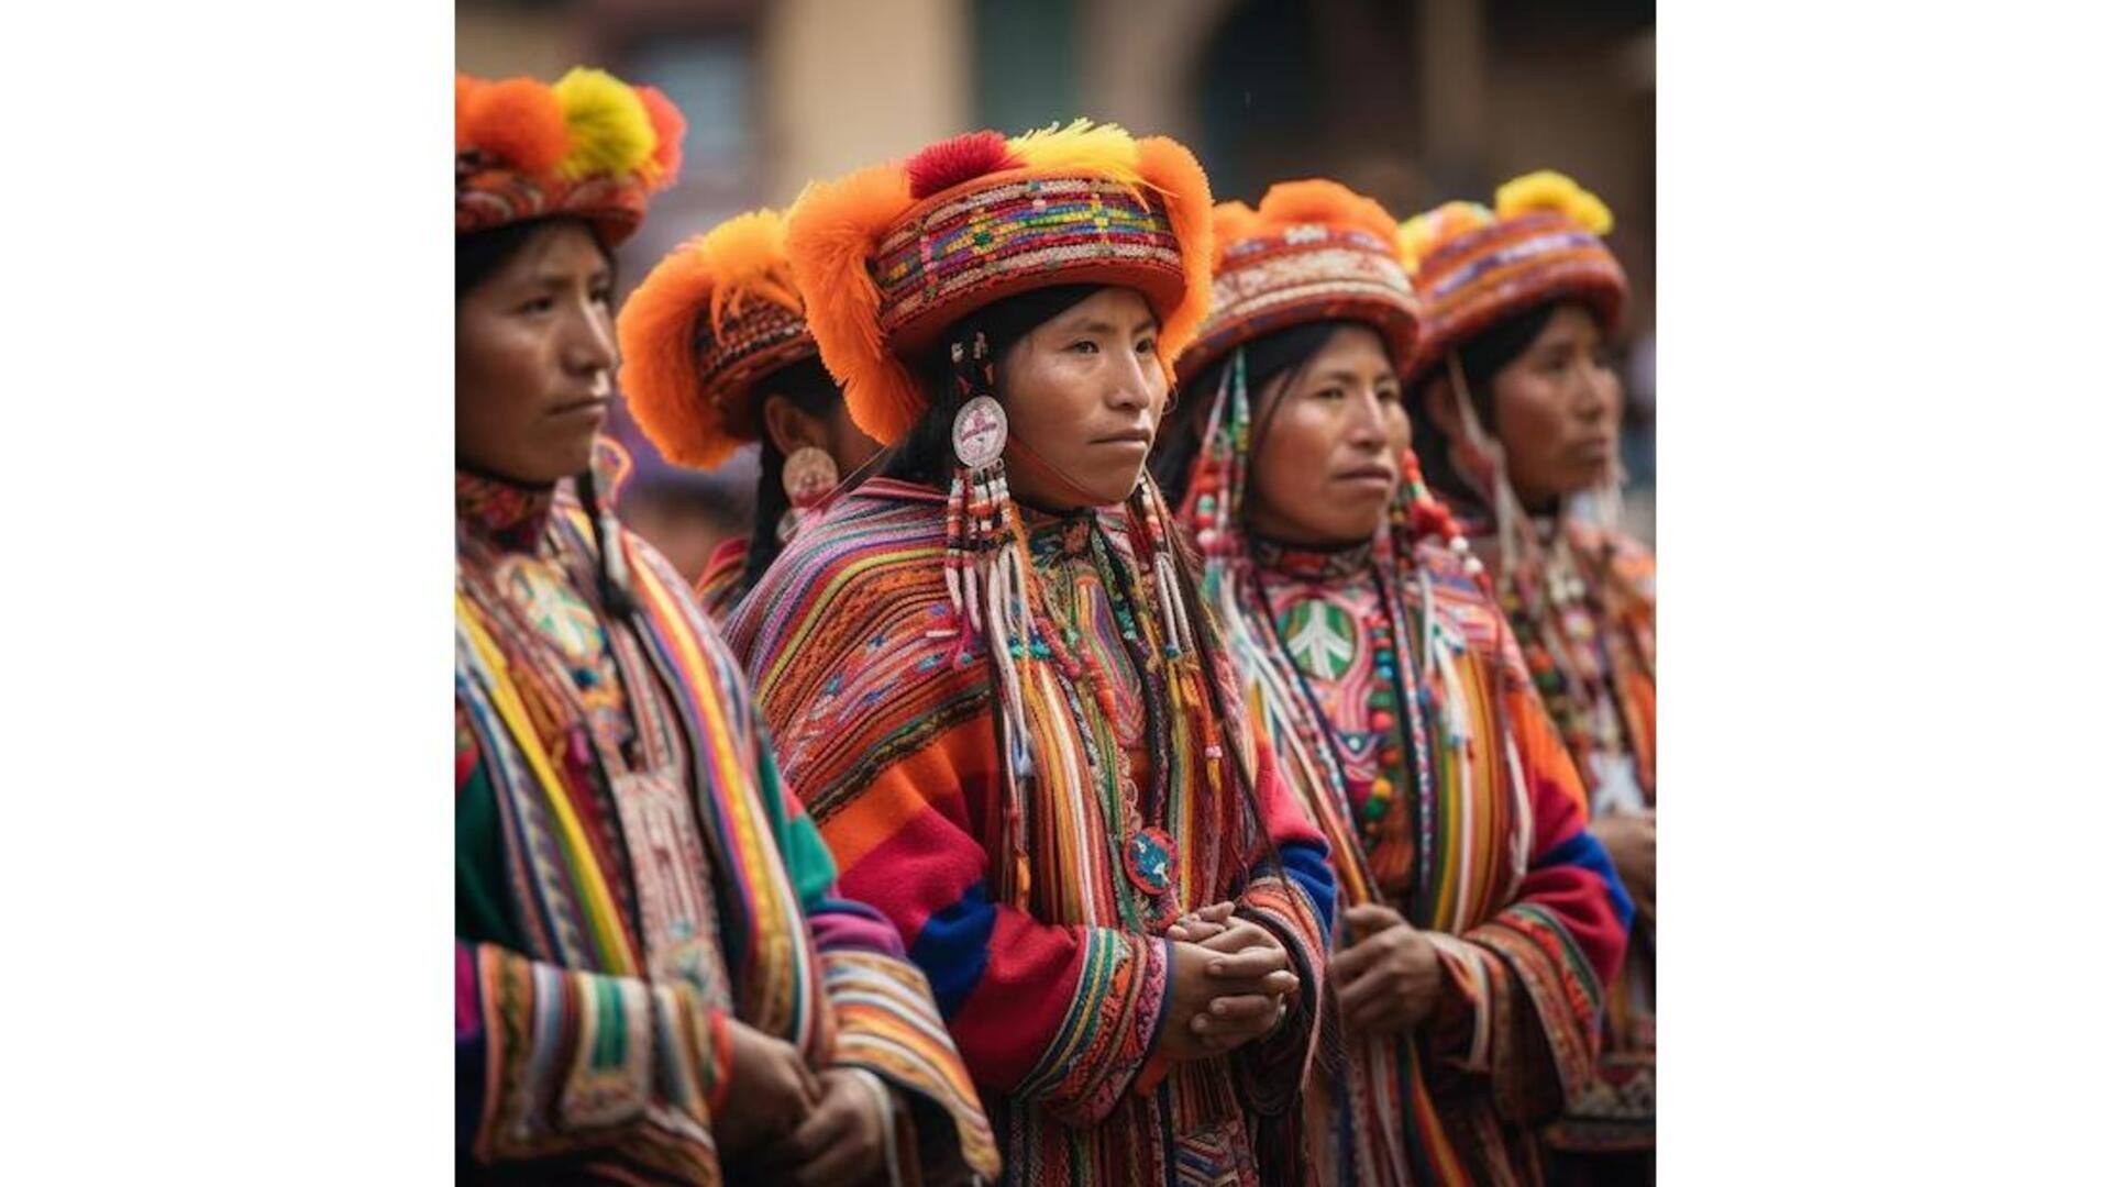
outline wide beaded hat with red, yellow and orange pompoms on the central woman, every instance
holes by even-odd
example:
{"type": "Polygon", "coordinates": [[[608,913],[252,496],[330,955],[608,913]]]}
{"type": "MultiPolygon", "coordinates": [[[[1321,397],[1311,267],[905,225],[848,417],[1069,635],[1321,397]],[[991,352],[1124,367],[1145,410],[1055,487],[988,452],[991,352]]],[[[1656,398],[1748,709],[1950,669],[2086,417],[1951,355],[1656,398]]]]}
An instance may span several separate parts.
{"type": "Polygon", "coordinates": [[[1053,285],[1138,289],[1172,374],[1210,304],[1210,180],[1180,144],[1115,125],[946,139],[809,186],[787,224],[821,361],[880,444],[927,406],[908,359],[982,306],[1053,285]]]}

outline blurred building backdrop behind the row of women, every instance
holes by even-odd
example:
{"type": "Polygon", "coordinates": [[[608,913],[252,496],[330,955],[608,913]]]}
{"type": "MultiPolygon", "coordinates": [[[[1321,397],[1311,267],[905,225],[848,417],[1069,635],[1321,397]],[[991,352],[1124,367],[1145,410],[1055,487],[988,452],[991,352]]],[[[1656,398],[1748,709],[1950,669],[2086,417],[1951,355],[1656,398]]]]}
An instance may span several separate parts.
{"type": "MultiPolygon", "coordinates": [[[[688,114],[682,182],[623,247],[635,283],[682,239],[925,144],[1072,116],[1165,133],[1218,199],[1330,175],[1406,218],[1560,169],[1615,211],[1634,285],[1628,524],[1655,534],[1653,0],[456,0],[456,65],[604,65],[688,114]]],[[[623,513],[695,574],[745,532],[754,458],[640,460],[623,513]]]]}

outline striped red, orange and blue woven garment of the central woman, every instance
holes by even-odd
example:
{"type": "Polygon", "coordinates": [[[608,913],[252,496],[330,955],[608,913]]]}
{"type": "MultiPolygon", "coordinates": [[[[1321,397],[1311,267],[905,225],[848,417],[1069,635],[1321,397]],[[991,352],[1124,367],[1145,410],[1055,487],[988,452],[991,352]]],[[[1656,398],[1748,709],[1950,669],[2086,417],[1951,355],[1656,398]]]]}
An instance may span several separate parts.
{"type": "MultiPolygon", "coordinates": [[[[842,496],[764,574],[728,640],[844,893],[887,912],[929,974],[996,1119],[1007,1179],[1277,1181],[1315,1041],[1309,1003],[1334,900],[1326,847],[1264,746],[1252,809],[1210,762],[1174,784],[1191,790],[1167,805],[1172,904],[1155,908],[1123,839],[1148,824],[1136,800],[1153,762],[1136,750],[1142,716],[1169,705],[1138,697],[1123,600],[1108,587],[1136,581],[1129,530],[1102,509],[1043,524],[1032,545],[1037,587],[1053,600],[1037,619],[1077,634],[1074,646],[1047,642],[1079,670],[1058,680],[1039,648],[1022,661],[1022,680],[1051,682],[1034,701],[1066,712],[1028,720],[1039,777],[1020,819],[999,773],[990,665],[946,596],[937,490],[874,479],[842,496]],[[1087,564],[1087,549],[1104,551],[1087,564]],[[1026,836],[1020,853],[1007,830],[1026,836]],[[1222,900],[1290,948],[1300,1010],[1233,1058],[1167,1071],[1153,1060],[1172,972],[1163,931],[1222,900]]],[[[1218,678],[1237,703],[1229,672],[1218,678]]]]}

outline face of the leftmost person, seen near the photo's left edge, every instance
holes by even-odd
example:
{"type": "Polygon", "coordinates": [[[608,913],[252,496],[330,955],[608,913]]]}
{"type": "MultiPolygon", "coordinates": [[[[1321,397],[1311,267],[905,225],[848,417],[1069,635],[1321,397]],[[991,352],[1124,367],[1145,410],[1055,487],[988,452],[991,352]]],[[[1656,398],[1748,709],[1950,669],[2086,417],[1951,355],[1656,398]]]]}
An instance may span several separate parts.
{"type": "Polygon", "coordinates": [[[587,469],[614,395],[610,285],[585,224],[553,222],[456,300],[456,460],[532,486],[587,469]]]}

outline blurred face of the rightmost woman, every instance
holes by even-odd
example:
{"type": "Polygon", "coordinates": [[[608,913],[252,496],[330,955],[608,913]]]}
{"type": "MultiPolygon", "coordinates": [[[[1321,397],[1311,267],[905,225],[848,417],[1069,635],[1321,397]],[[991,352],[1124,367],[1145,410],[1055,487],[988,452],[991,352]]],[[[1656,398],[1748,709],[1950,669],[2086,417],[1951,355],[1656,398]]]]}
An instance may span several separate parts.
{"type": "Polygon", "coordinates": [[[1522,355],[1495,372],[1495,433],[1526,507],[1604,482],[1619,448],[1619,378],[1579,304],[1554,310],[1522,355]]]}

